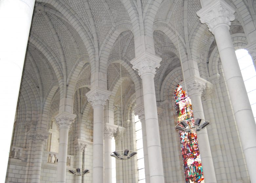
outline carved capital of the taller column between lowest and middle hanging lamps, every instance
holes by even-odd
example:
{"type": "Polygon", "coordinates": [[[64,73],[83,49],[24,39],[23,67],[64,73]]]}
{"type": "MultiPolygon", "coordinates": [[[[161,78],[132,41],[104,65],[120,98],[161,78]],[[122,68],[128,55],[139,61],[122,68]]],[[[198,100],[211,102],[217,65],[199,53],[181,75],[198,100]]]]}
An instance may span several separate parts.
{"type": "Polygon", "coordinates": [[[102,90],[102,89],[94,89],[90,92],[86,93],[88,102],[91,103],[93,107],[95,106],[105,106],[106,101],[109,100],[111,92],[102,90]]]}

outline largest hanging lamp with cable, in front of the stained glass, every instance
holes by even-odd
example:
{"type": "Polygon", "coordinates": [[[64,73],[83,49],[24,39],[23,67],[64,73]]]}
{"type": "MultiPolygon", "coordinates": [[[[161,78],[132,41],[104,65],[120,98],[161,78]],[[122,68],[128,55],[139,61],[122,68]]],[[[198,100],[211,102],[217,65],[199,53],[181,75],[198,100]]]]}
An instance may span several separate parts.
{"type": "MultiPolygon", "coordinates": [[[[172,5],[171,5],[171,8],[172,8],[172,5]]],[[[182,61],[181,61],[181,51],[180,51],[180,46],[179,46],[179,40],[178,40],[176,25],[175,25],[175,21],[174,21],[173,8],[172,8],[172,18],[173,18],[173,24],[174,24],[174,29],[175,29],[175,34],[176,34],[176,39],[177,39],[177,44],[178,44],[178,50],[179,50],[179,54],[180,54],[181,72],[182,72],[182,76],[183,76],[183,80],[184,80],[185,92],[187,92],[186,82],[185,82],[185,77],[184,77],[184,72],[183,72],[183,66],[182,66],[182,61]]],[[[183,131],[183,132],[194,133],[194,132],[198,132],[198,131],[202,130],[209,124],[210,124],[210,122],[206,121],[204,119],[199,119],[199,118],[185,119],[185,120],[179,122],[175,126],[175,129],[179,130],[179,131],[183,131]]]]}

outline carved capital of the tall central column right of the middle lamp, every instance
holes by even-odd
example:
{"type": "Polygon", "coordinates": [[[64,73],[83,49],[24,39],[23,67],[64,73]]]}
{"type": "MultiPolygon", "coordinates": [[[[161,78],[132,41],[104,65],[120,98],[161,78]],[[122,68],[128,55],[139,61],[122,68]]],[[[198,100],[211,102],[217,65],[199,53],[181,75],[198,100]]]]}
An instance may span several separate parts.
{"type": "Polygon", "coordinates": [[[156,68],[160,67],[160,62],[162,58],[157,57],[155,55],[151,55],[150,53],[144,52],[139,57],[131,60],[131,64],[133,65],[133,69],[138,70],[139,76],[145,73],[156,74],[156,68]]]}

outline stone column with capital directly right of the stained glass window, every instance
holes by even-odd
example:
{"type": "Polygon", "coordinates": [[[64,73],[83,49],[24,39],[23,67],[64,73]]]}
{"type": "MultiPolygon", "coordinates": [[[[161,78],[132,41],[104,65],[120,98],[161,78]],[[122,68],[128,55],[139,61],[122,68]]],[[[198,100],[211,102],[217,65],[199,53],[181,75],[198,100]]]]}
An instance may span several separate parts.
{"type": "MultiPolygon", "coordinates": [[[[194,118],[204,119],[201,96],[205,88],[205,84],[202,81],[198,81],[196,78],[187,81],[186,83],[187,92],[192,103],[194,118]]],[[[204,180],[207,183],[216,183],[217,180],[206,128],[197,132],[197,140],[202,161],[204,180]]]]}

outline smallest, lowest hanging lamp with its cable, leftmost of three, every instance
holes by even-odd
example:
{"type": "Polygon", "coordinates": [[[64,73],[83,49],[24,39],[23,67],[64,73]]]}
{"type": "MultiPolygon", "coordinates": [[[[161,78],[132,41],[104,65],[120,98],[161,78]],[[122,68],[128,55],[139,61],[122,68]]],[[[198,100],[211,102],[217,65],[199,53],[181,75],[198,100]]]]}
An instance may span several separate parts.
{"type": "MultiPolygon", "coordinates": [[[[83,96],[83,89],[81,89],[81,90],[82,91],[81,91],[81,96],[80,96],[80,98],[81,98],[81,102],[80,102],[81,108],[80,108],[80,129],[79,129],[80,132],[79,132],[79,139],[77,139],[77,143],[78,144],[82,142],[82,140],[80,138],[81,138],[81,126],[82,126],[82,96],[83,96]]],[[[75,156],[75,159],[76,159],[76,157],[77,157],[77,155],[75,156]]],[[[75,160],[74,160],[74,162],[75,162],[75,160]]],[[[83,162],[82,162],[82,168],[72,168],[68,172],[70,174],[72,174],[72,175],[75,175],[75,176],[83,176],[85,174],[90,173],[89,170],[84,169],[83,162]]]]}

